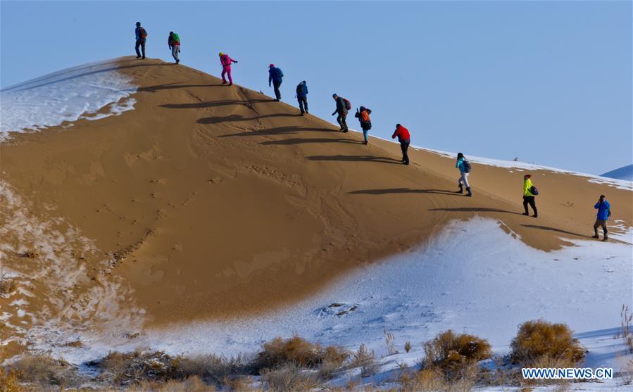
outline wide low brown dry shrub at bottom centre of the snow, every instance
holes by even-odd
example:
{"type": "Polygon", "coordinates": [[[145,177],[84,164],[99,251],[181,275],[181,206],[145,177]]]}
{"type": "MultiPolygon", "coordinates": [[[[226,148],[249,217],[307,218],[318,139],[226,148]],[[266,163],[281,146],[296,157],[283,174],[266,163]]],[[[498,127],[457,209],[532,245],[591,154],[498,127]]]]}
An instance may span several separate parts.
{"type": "Polygon", "coordinates": [[[349,353],[341,348],[329,346],[324,350],[320,345],[310,343],[299,336],[287,340],[278,337],[263,344],[263,351],[258,354],[256,367],[261,371],[288,364],[308,368],[317,367],[322,362],[342,365],[348,357],[349,353]]]}

